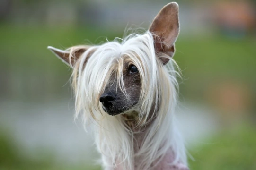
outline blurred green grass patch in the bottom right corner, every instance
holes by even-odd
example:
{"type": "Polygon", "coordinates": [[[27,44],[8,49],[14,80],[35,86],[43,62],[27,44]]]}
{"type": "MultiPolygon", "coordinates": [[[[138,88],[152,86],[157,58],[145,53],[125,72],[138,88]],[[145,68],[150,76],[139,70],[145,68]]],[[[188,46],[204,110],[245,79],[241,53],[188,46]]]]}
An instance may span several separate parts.
{"type": "Polygon", "coordinates": [[[256,170],[255,127],[236,127],[191,148],[191,170],[256,170]]]}

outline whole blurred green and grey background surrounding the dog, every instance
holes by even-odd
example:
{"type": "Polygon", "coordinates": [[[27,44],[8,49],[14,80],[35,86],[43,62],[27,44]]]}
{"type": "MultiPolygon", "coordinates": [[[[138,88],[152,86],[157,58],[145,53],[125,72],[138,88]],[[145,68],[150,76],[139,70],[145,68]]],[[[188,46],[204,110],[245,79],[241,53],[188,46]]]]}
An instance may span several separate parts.
{"type": "MultiPolygon", "coordinates": [[[[71,69],[46,49],[148,28],[168,0],[0,0],[0,170],[100,170],[71,69]]],[[[177,0],[191,170],[256,170],[256,1],[177,0]]]]}

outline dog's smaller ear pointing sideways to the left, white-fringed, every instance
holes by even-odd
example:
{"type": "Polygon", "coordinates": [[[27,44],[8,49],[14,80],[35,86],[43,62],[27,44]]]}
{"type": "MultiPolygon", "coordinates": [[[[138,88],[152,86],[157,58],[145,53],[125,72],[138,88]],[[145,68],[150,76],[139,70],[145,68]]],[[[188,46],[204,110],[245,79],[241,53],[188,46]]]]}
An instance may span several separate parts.
{"type": "MultiPolygon", "coordinates": [[[[74,63],[79,59],[79,57],[90,48],[90,46],[80,45],[74,46],[67,50],[60,50],[51,46],[48,46],[47,49],[53,52],[59,59],[62,60],[65,64],[73,68],[74,63]]],[[[87,60],[87,59],[86,59],[87,60]]]]}

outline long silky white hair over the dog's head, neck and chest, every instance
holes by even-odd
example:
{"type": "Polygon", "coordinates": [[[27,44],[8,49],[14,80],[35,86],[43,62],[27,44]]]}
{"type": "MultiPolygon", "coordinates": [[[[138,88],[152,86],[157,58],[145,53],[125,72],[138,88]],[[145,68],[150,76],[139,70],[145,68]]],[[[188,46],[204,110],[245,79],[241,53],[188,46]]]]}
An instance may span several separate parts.
{"type": "MultiPolygon", "coordinates": [[[[161,57],[168,56],[163,54],[161,57]]],[[[122,164],[123,170],[133,170],[134,158],[139,156],[141,160],[138,170],[150,170],[150,164],[160,160],[169,148],[175,153],[173,163],[181,162],[186,165],[185,146],[176,128],[175,119],[178,85],[176,69],[178,67],[173,59],[163,66],[155,55],[150,32],[131,34],[124,40],[115,39],[113,42],[93,46],[75,63],[72,85],[76,116],[81,113],[86,123],[92,123],[105,170],[113,170],[119,164],[122,164]],[[90,51],[95,52],[84,66],[90,51]],[[136,153],[133,151],[132,130],[124,125],[121,115],[110,116],[105,113],[99,102],[112,71],[117,73],[118,85],[124,93],[131,93],[124,89],[124,56],[132,60],[141,75],[140,100],[133,108],[139,113],[140,125],[146,125],[149,119],[156,116],[136,153]],[[152,107],[155,108],[153,116],[150,114],[152,107]]]]}

